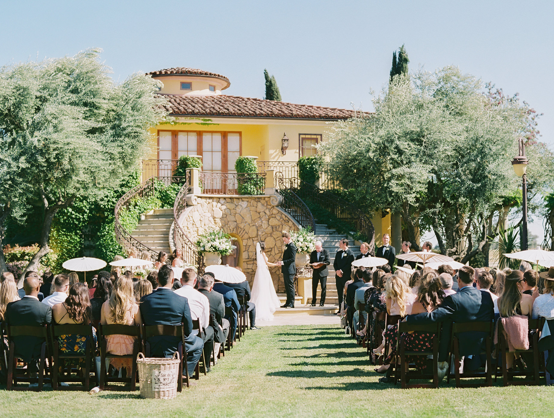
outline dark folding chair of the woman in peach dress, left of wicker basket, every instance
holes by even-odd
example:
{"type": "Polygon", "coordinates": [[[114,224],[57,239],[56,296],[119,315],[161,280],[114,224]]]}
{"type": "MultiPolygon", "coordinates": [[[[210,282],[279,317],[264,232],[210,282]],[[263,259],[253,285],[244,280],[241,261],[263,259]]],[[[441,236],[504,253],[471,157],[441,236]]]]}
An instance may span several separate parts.
{"type": "Polygon", "coordinates": [[[139,325],[123,325],[123,324],[110,324],[102,325],[98,327],[98,345],[100,347],[100,389],[104,390],[109,388],[106,383],[130,383],[131,390],[136,389],[137,378],[137,355],[140,352],[140,326],[139,325]],[[123,335],[136,337],[133,344],[133,353],[125,355],[116,355],[107,353],[107,338],[112,335],[123,335]],[[128,378],[110,377],[107,373],[106,359],[131,359],[131,370],[127,370],[128,378]]]}

